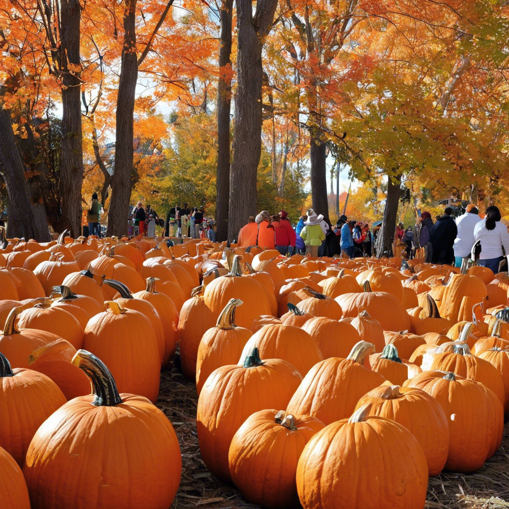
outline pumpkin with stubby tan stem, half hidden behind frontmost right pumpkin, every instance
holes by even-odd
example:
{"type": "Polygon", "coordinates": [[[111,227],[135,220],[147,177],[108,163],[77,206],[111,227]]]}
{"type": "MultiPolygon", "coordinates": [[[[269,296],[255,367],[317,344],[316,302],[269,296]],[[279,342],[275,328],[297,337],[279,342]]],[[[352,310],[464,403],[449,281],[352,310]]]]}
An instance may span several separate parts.
{"type": "Polygon", "coordinates": [[[356,410],[369,404],[369,415],[400,423],[419,442],[428,462],[429,475],[438,475],[447,461],[449,427],[440,404],[425,391],[393,386],[394,397],[384,394],[390,386],[382,385],[365,394],[356,410]]]}

